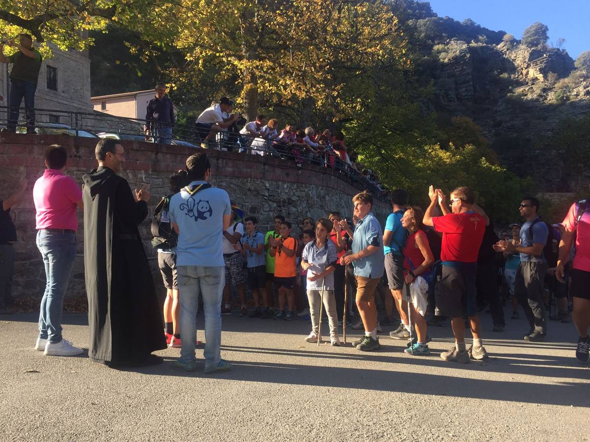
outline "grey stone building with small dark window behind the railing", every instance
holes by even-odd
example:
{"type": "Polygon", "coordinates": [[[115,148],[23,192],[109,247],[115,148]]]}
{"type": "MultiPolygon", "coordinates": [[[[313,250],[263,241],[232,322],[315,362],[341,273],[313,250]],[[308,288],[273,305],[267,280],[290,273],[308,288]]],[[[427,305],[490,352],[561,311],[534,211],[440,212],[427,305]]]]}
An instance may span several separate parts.
{"type": "MultiPolygon", "coordinates": [[[[90,58],[88,51],[62,51],[50,44],[53,58],[44,58],[35,94],[38,122],[70,124],[67,112],[93,112],[90,103],[90,58]]],[[[0,64],[0,106],[8,106],[11,65],[0,64]]],[[[21,104],[24,106],[24,103],[21,104]]],[[[4,119],[3,115],[0,119],[4,119]]]]}

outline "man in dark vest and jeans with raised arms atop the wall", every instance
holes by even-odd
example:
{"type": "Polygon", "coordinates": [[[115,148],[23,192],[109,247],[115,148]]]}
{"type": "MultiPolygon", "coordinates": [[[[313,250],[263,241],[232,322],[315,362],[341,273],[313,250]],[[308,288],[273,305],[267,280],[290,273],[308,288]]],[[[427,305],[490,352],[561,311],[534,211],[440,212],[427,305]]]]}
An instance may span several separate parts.
{"type": "Polygon", "coordinates": [[[18,52],[6,57],[4,42],[0,41],[0,63],[12,63],[10,71],[10,114],[8,124],[2,132],[16,132],[18,110],[22,99],[25,99],[25,117],[27,133],[35,133],[35,90],[37,78],[43,61],[41,54],[33,47],[29,34],[20,34],[19,42],[8,41],[7,44],[18,48],[18,52]]]}

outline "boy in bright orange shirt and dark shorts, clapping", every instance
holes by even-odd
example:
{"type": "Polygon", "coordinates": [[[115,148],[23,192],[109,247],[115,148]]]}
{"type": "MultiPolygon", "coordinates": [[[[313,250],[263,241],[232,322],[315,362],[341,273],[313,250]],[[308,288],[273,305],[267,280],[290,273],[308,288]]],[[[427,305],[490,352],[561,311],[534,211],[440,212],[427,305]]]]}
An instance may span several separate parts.
{"type": "Polygon", "coordinates": [[[297,278],[297,240],[291,237],[291,223],[281,222],[278,238],[268,238],[270,256],[274,258],[274,283],[278,288],[278,313],[274,319],[293,320],[295,296],[293,285],[297,278]],[[285,313],[285,300],[289,310],[285,313]]]}

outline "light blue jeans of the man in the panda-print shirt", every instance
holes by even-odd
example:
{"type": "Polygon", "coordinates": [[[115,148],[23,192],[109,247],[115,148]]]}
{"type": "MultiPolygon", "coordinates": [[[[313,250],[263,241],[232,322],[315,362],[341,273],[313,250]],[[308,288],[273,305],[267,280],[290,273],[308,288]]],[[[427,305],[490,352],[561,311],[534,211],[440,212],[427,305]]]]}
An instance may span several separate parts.
{"type": "Polygon", "coordinates": [[[205,310],[205,368],[213,368],[221,360],[221,299],[225,267],[177,266],[176,270],[181,303],[182,361],[196,361],[196,313],[200,294],[205,310]]]}

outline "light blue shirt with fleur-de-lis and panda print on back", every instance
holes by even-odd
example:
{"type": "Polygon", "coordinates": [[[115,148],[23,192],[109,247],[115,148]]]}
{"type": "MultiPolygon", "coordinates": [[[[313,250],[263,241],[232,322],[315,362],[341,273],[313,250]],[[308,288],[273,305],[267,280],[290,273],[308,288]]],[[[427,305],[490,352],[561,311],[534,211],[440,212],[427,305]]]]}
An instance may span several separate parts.
{"type": "Polygon", "coordinates": [[[230,195],[210,187],[191,195],[193,181],[170,200],[170,219],[178,224],[176,266],[225,267],[222,252],[223,215],[231,214],[230,195]]]}

